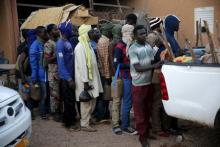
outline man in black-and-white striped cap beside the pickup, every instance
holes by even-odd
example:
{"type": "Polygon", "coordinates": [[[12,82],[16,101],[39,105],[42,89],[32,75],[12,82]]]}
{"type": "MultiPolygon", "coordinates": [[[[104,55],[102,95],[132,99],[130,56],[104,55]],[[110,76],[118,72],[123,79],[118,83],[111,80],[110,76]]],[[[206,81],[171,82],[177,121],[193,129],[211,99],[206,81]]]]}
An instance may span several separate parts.
{"type": "MultiPolygon", "coordinates": [[[[147,36],[147,42],[151,45],[154,53],[154,62],[161,61],[161,53],[165,50],[165,46],[162,42],[162,34],[160,26],[162,25],[162,20],[159,17],[154,17],[150,19],[150,28],[151,32],[147,36]]],[[[152,85],[154,89],[153,93],[153,101],[152,101],[152,113],[151,113],[151,125],[152,132],[155,135],[161,137],[168,137],[169,134],[162,130],[162,122],[161,122],[161,112],[163,110],[163,104],[161,101],[161,89],[160,89],[160,80],[159,74],[161,73],[159,70],[154,70],[152,85]]],[[[165,112],[164,112],[165,113],[165,112]]]]}

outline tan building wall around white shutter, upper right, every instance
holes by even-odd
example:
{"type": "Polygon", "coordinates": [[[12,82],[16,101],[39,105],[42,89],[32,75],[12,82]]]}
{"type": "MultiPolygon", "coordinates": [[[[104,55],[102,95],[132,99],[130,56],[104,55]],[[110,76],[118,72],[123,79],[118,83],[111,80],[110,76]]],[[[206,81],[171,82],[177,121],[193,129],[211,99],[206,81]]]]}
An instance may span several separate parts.
{"type": "MultiPolygon", "coordinates": [[[[194,8],[214,6],[215,20],[219,20],[220,23],[220,0],[129,0],[128,5],[137,10],[147,12],[149,16],[163,18],[167,14],[177,15],[181,19],[178,40],[182,46],[184,45],[185,37],[189,38],[193,45],[195,44],[194,8]]],[[[206,36],[204,35],[204,37],[206,36]]],[[[214,41],[218,45],[216,33],[214,33],[214,41]]]]}

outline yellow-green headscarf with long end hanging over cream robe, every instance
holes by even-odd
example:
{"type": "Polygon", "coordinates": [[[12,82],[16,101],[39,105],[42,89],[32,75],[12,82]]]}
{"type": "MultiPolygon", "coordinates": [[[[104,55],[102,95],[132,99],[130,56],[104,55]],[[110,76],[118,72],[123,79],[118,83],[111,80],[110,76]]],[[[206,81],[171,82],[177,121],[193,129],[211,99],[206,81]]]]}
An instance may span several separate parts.
{"type": "Polygon", "coordinates": [[[89,76],[89,80],[93,79],[93,70],[92,70],[92,63],[91,63],[91,47],[89,45],[89,35],[88,32],[92,29],[92,27],[90,25],[81,25],[79,27],[79,42],[83,45],[83,47],[85,48],[86,51],[86,64],[87,64],[87,68],[88,68],[88,76],[89,76]]]}

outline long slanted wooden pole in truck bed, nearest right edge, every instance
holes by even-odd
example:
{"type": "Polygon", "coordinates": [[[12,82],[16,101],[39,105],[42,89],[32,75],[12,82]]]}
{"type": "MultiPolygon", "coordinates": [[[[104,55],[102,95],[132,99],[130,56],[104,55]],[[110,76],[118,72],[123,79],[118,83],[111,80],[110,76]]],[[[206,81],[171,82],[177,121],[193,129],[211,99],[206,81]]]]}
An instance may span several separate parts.
{"type": "Polygon", "coordinates": [[[217,55],[215,53],[215,47],[214,47],[214,43],[213,43],[213,40],[212,40],[212,36],[210,34],[210,31],[209,31],[209,26],[208,26],[207,21],[204,20],[204,24],[205,24],[206,33],[207,33],[208,40],[209,40],[210,52],[212,54],[212,61],[213,61],[213,63],[218,64],[219,63],[218,58],[217,58],[217,55]]]}

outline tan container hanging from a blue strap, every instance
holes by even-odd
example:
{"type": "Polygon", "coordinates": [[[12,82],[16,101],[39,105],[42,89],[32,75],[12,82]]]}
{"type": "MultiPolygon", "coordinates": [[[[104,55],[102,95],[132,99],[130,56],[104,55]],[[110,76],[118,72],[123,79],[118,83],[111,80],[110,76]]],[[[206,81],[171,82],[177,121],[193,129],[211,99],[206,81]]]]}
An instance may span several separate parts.
{"type": "Polygon", "coordinates": [[[111,97],[120,98],[123,94],[123,81],[119,78],[120,75],[120,64],[118,64],[115,76],[111,84],[111,97]]]}

